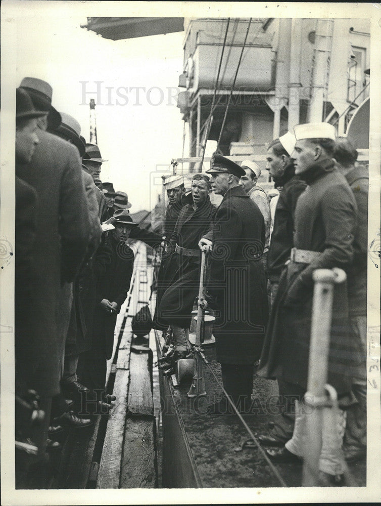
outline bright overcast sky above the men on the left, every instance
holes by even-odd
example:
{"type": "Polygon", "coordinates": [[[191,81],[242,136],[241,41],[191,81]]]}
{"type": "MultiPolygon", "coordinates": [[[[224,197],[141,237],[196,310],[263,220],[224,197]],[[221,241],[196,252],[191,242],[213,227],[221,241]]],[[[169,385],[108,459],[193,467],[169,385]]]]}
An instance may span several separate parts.
{"type": "Polygon", "coordinates": [[[176,93],[184,33],[113,41],[81,28],[85,22],[85,17],[19,18],[18,84],[25,76],[48,81],[54,107],[79,121],[87,142],[88,103],[96,99],[98,144],[108,160],[101,179],[128,193],[132,212],[151,209],[161,192],[152,174],[182,155],[176,93]],[[100,95],[89,93],[97,90],[100,95]]]}

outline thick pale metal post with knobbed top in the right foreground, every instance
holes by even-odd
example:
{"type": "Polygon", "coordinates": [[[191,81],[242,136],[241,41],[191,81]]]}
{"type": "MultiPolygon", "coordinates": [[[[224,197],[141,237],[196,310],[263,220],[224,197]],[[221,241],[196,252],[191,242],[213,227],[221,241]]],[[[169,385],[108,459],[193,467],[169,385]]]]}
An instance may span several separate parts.
{"type": "Polygon", "coordinates": [[[313,273],[315,282],[311,341],[308,366],[308,392],[306,403],[312,407],[305,416],[305,438],[303,451],[303,486],[318,485],[319,458],[322,447],[322,414],[327,405],[325,385],[327,383],[328,353],[332,319],[334,283],[341,283],[346,274],[341,269],[317,269],[313,273]]]}

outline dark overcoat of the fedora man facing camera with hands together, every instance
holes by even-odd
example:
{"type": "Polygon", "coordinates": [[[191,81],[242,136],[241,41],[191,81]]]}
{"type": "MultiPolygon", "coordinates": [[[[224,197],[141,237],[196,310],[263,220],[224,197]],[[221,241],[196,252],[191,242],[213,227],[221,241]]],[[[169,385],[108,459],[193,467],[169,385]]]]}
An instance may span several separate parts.
{"type": "Polygon", "coordinates": [[[109,264],[105,272],[97,281],[97,301],[93,319],[93,345],[102,354],[103,358],[111,358],[114,344],[114,328],[121,307],[127,298],[130,287],[134,254],[124,242],[117,242],[112,234],[103,244],[96,258],[96,270],[103,268],[104,257],[109,255],[109,264]],[[103,299],[116,302],[117,308],[113,313],[108,313],[100,306],[103,299]]]}

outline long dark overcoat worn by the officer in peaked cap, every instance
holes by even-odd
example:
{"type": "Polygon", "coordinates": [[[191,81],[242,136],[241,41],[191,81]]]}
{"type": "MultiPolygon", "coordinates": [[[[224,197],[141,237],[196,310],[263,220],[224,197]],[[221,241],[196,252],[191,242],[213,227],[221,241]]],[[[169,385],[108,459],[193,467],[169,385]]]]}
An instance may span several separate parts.
{"type": "Polygon", "coordinates": [[[226,192],[206,238],[213,241],[207,286],[219,311],[213,327],[217,358],[226,364],[253,364],[260,357],[268,318],[260,260],[265,226],[258,206],[242,187],[226,192]]]}

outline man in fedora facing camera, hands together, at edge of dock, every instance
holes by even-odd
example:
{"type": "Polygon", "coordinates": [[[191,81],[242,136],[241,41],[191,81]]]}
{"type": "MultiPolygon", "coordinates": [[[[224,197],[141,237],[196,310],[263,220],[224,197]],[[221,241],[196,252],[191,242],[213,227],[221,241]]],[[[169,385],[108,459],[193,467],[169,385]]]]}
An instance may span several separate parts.
{"type": "Polygon", "coordinates": [[[126,240],[137,223],[133,223],[126,209],[121,209],[114,213],[113,224],[115,229],[108,234],[97,251],[95,263],[101,262],[103,265],[105,254],[109,255],[109,263],[98,280],[91,349],[80,355],[78,364],[80,381],[90,389],[90,395],[86,399],[88,403],[84,406],[86,409],[90,408],[91,401],[107,401],[107,360],[112,355],[114,327],[127,297],[133,271],[134,254],[126,240]]]}

